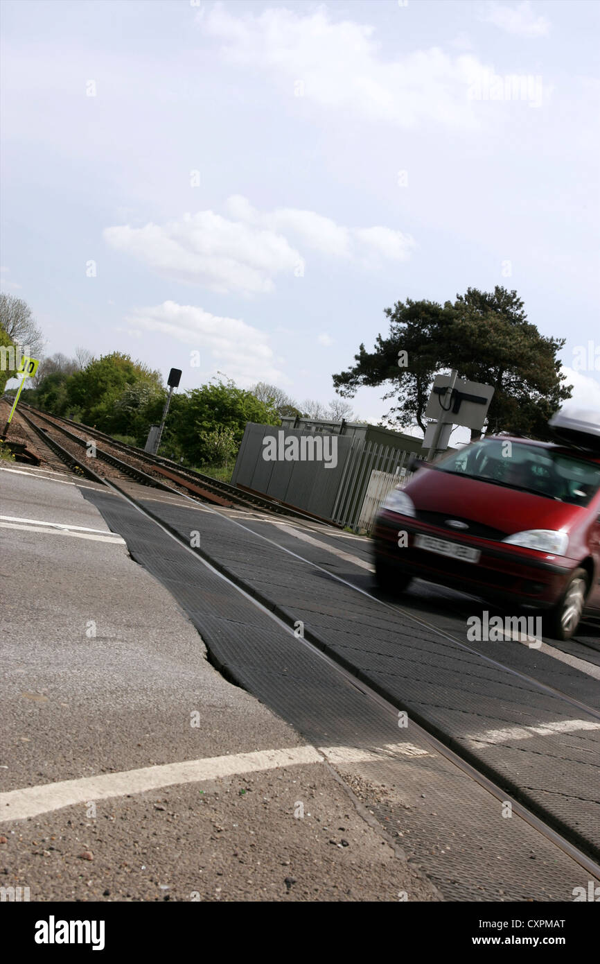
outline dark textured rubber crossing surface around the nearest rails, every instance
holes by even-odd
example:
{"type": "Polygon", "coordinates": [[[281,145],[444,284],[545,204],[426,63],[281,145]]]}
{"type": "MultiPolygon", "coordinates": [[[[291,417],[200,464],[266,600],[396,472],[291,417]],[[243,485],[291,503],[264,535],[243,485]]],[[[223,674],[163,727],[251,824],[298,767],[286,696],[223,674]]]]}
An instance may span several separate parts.
{"type": "MultiPolygon", "coordinates": [[[[374,799],[374,812],[390,826],[403,825],[404,836],[410,835],[403,846],[419,854],[446,897],[572,899],[571,888],[581,884],[584,871],[522,820],[502,819],[499,801],[456,766],[428,746],[422,756],[409,758],[402,750],[384,749],[403,741],[418,743],[410,725],[400,729],[392,714],[366,699],[300,639],[196,563],[188,550],[128,503],[93,490],[84,495],[123,536],[132,556],[170,589],[225,675],[316,746],[374,749],[380,757],[378,766],[374,764],[378,779],[390,767],[396,779],[402,774],[413,805],[399,813],[394,806],[386,811],[381,800],[374,799]],[[420,793],[425,789],[427,797],[420,793]],[[429,802],[416,806],[416,797],[429,802]]],[[[257,594],[269,587],[271,606],[290,625],[304,621],[305,629],[319,633],[323,645],[354,667],[358,677],[389,692],[410,715],[414,716],[413,707],[427,714],[430,729],[443,727],[487,770],[497,770],[505,784],[513,782],[523,797],[531,794],[538,810],[569,826],[571,838],[580,835],[595,843],[596,801],[577,795],[579,786],[591,785],[598,739],[594,732],[531,736],[507,745],[483,740],[476,748],[468,743],[474,734],[491,729],[572,720],[579,718],[579,711],[575,714],[561,700],[478,663],[477,657],[465,656],[441,637],[419,629],[417,639],[414,628],[399,625],[397,614],[219,515],[203,513],[198,522],[196,511],[156,500],[147,508],[186,540],[200,525],[202,551],[255,586],[257,594]]]]}

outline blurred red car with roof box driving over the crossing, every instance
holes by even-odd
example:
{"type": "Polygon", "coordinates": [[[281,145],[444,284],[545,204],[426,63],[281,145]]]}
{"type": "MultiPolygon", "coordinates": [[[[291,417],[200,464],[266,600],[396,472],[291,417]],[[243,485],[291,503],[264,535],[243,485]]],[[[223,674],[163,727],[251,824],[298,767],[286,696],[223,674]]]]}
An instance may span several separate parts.
{"type": "Polygon", "coordinates": [[[585,611],[600,616],[600,425],[556,416],[553,427],[568,442],[495,436],[417,463],[378,515],[379,586],[402,591],[416,576],[535,606],[557,639],[585,611]]]}

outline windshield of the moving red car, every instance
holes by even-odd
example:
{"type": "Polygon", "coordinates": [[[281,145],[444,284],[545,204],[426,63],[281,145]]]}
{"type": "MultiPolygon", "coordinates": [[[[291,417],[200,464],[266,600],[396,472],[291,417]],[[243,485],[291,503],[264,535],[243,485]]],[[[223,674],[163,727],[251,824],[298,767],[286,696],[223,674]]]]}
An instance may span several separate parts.
{"type": "Polygon", "coordinates": [[[434,468],[573,505],[588,505],[600,488],[600,465],[509,439],[474,442],[434,468]]]}

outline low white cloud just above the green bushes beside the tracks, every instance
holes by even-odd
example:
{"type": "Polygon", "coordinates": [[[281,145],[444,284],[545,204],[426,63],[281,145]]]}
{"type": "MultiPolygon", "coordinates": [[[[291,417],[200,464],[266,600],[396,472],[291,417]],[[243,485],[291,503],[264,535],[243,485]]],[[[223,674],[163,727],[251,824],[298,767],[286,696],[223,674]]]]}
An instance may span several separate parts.
{"type": "Polygon", "coordinates": [[[240,385],[289,379],[276,367],[269,336],[241,318],[211,314],[192,305],[167,301],[154,308],[135,308],[125,319],[131,333],[158,332],[200,353],[202,372],[222,369],[240,385]]]}

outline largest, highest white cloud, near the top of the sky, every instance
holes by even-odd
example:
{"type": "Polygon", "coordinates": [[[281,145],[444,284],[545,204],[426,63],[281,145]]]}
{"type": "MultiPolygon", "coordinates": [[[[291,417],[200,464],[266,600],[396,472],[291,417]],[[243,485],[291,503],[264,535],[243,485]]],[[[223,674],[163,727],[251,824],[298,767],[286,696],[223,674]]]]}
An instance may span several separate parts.
{"type": "Polygon", "coordinates": [[[385,61],[372,26],[333,22],[323,8],[238,16],[217,6],[197,22],[222,40],[228,64],[269,73],[291,97],[403,127],[423,120],[451,127],[475,123],[465,96],[464,58],[439,47],[385,61]]]}

